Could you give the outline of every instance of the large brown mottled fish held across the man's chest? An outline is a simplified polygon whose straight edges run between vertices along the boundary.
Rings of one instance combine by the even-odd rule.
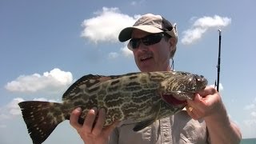
[[[185,71],[134,72],[120,75],[87,74],[62,95],[62,102],[24,101],[18,106],[34,144],[41,144],[59,123],[69,120],[81,107],[78,122],[83,124],[93,107],[106,110],[104,127],[131,120],[134,131],[182,110],[187,99],[203,90],[207,80]]]

